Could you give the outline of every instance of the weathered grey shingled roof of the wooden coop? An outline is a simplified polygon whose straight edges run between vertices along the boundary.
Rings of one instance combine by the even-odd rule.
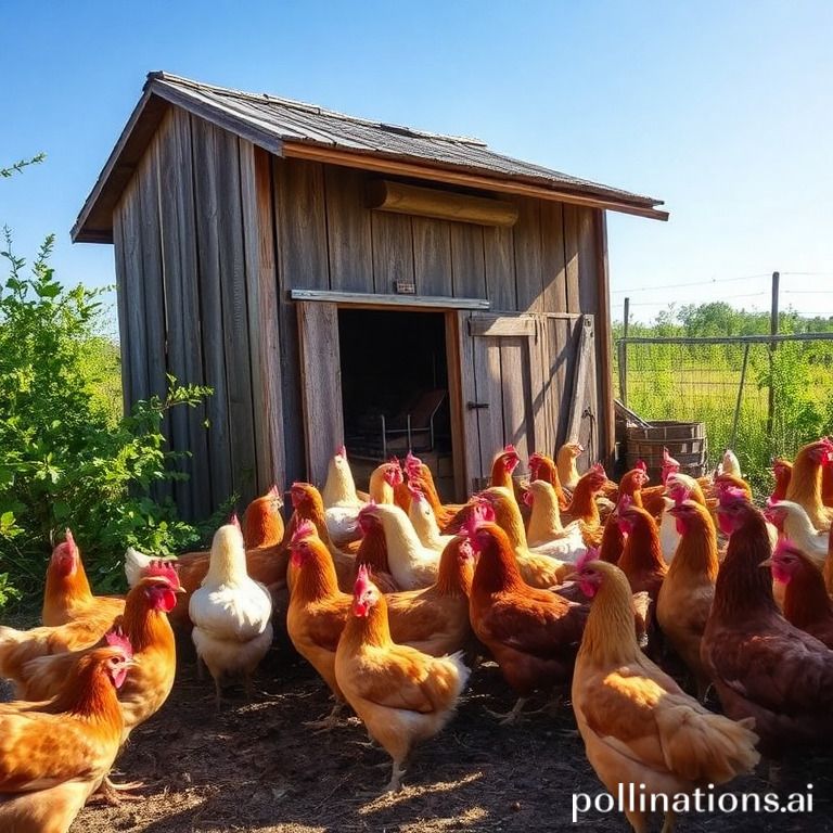
[[[266,93],[242,92],[150,73],[143,95],[78,216],[75,241],[111,242],[112,214],[165,110],[176,105],[278,156],[542,197],[667,219],[661,200],[572,177],[490,150],[478,139],[443,136],[347,116]],[[384,168],[382,163],[385,163]],[[456,175],[456,178],[451,178]]]

